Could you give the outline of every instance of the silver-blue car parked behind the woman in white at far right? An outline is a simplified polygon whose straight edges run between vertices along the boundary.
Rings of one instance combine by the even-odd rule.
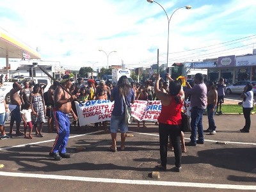
[[[244,86],[246,86],[246,84],[251,83],[253,84],[253,93],[256,93],[256,81],[238,81],[237,83],[231,84],[229,86],[226,87],[226,92],[227,94],[231,94],[231,93],[243,93],[244,91]]]

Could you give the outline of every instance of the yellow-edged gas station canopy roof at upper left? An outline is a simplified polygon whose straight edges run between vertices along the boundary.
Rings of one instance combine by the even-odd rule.
[[[0,28],[0,58],[41,59],[40,54]]]

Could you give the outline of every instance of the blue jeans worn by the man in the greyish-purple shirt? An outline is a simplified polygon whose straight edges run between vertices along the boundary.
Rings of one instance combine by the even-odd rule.
[[[191,109],[191,143],[196,144],[196,132],[198,132],[198,141],[204,142],[204,129],[203,129],[203,114],[205,109],[192,108]]]

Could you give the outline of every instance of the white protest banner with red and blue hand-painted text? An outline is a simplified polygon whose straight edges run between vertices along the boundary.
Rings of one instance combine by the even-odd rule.
[[[114,102],[110,100],[88,100],[82,106],[76,102],[77,117],[79,125],[84,126],[97,122],[109,121],[111,112],[114,108]],[[131,104],[132,116],[139,121],[157,122],[157,118],[161,113],[160,100],[135,100]],[[186,101],[184,112],[190,116],[190,102]]]

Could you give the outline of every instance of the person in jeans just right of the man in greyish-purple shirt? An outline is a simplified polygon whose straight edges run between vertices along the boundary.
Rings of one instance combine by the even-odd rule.
[[[209,128],[205,132],[216,134],[216,125],[213,117],[217,105],[218,93],[215,90],[215,86],[212,81],[207,82],[207,91],[207,115]]]

